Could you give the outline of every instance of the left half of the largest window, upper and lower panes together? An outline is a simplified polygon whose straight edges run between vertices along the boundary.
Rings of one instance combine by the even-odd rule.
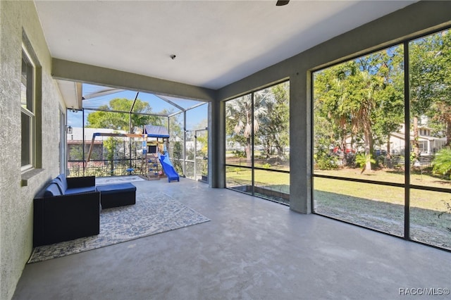
[[[404,54],[314,73],[314,174],[404,184]],[[404,189],[314,177],[317,213],[404,235]]]

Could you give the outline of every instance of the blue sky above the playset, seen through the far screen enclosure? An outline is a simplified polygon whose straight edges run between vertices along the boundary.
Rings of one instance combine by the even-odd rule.
[[[99,87],[95,85],[87,85],[83,84],[83,96],[85,96],[85,100],[83,100],[83,108],[98,108],[102,105],[108,105],[109,101],[115,98],[126,98],[130,100],[134,100],[137,96],[137,92],[134,91],[122,91],[122,92],[115,92],[113,94],[105,94],[103,96],[97,96],[95,98],[89,99],[90,94],[94,94],[96,92],[99,92],[101,90],[107,89],[106,87]],[[165,99],[169,101],[173,101],[175,104],[182,108],[190,108],[194,105],[202,103],[201,101],[192,101],[187,99],[180,99],[175,98],[171,96],[164,96]],[[173,111],[173,113],[178,113],[181,110],[179,108],[176,108],[175,106],[172,106],[171,104],[168,104],[166,101],[163,101],[162,99],[159,99],[158,96],[154,94],[139,92],[137,99],[140,99],[141,101],[146,101],[149,103],[149,106],[152,107],[152,112],[159,113],[166,109],[166,111]],[[85,110],[85,123],[87,120],[87,115],[89,112]],[[72,111],[68,110],[68,125],[72,127],[82,127],[82,111],[76,111],[73,113]],[[199,124],[206,123],[206,120],[208,118],[208,105],[204,104],[202,106],[199,106],[197,108],[192,108],[189,111],[187,111],[187,130],[196,130],[200,129]]]

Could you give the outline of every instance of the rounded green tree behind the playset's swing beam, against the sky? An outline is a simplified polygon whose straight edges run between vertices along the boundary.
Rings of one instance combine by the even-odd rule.
[[[107,111],[94,111],[87,115],[86,127],[130,131],[130,117],[132,120],[132,127],[143,127],[147,124],[162,125],[161,119],[158,116],[143,114],[152,113],[152,108],[147,102],[137,99],[135,106],[133,106],[133,113],[130,115],[128,112],[130,111],[130,108],[132,108],[132,104],[133,100],[130,99],[112,99],[109,102],[109,105],[99,107],[99,109]],[[123,111],[124,113],[112,111]]]

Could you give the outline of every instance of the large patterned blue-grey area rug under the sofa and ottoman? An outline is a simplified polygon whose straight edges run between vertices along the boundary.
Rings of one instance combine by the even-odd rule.
[[[135,205],[101,211],[99,235],[37,246],[28,263],[77,254],[208,221],[209,218],[162,192],[137,194]]]

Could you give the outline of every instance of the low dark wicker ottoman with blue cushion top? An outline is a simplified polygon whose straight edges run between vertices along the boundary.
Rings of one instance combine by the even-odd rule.
[[[131,205],[136,203],[136,187],[131,183],[98,185],[101,208]]]

